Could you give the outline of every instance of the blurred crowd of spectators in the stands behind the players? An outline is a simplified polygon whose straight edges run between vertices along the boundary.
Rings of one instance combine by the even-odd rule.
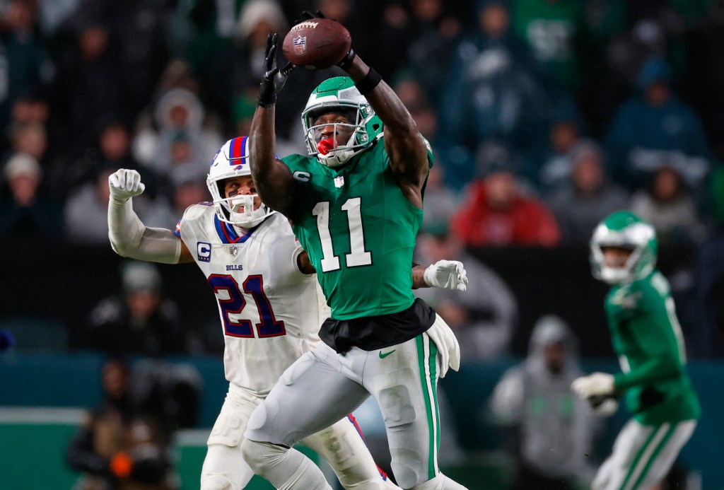
[[[146,182],[134,200],[141,219],[173,228],[187,206],[209,200],[206,173],[222,143],[248,133],[267,33],[284,35],[303,9],[350,30],[432,143],[417,261],[463,261],[470,284],[466,295],[418,294],[455,329],[463,358],[509,353],[525,300],[472,249],[585,246],[623,208],[654,225],[662,248],[693,250],[686,277],[672,281],[688,300],[682,320],[698,326],[695,356],[724,354],[719,0],[0,0],[0,243],[109,248],[107,179],[119,168]],[[280,153],[306,151],[300,111],[331,74],[292,73],[278,103]],[[124,263],[120,276],[122,292],[88,312],[68,347],[159,358],[220,344],[183,328],[155,266]],[[529,361],[577,373],[543,354],[549,337],[571,345],[559,319],[544,324]],[[127,367],[115,368],[125,379]],[[506,396],[506,384],[536,381],[526,370],[504,379],[493,411],[520,415],[521,468],[555,473],[526,439],[534,421],[515,408],[521,400]],[[559,384],[568,397],[568,378]],[[119,390],[94,418],[113,408],[130,420]],[[573,418],[569,408],[561,416]],[[188,417],[177,426],[193,426]],[[91,426],[69,453],[86,471]],[[560,436],[592,438],[589,428]],[[103,449],[99,474],[130,471],[109,466],[126,450]]]

